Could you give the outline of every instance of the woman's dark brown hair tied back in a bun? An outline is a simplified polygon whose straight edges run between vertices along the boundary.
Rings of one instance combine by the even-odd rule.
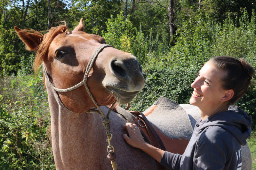
[[[225,90],[234,90],[234,96],[228,100],[228,105],[236,103],[251,85],[252,76],[255,74],[252,65],[244,59],[238,60],[230,56],[213,57],[209,61],[218,69],[226,71],[222,76],[222,87]]]

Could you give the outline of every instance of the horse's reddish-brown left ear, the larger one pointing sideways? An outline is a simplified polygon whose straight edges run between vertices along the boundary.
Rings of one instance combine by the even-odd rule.
[[[24,31],[17,26],[14,26],[15,31],[17,32],[20,39],[24,42],[24,44],[27,46],[27,50],[33,50],[36,51],[38,45],[42,42],[44,36],[40,33],[29,33],[27,31]]]

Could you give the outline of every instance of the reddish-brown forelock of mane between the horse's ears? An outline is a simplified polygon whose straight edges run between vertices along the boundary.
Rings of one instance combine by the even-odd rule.
[[[43,61],[46,59],[47,54],[48,54],[48,48],[52,42],[52,40],[54,39],[54,37],[56,35],[58,35],[59,33],[66,33],[67,30],[67,26],[65,25],[60,25],[57,27],[52,27],[48,33],[44,34],[44,36],[42,36],[43,40],[37,49],[36,49],[36,57],[35,57],[35,62],[33,64],[33,68],[35,70],[35,73],[37,73],[39,67],[42,65]],[[34,32],[37,34],[41,34],[39,32]],[[41,34],[42,35],[42,34]]]

